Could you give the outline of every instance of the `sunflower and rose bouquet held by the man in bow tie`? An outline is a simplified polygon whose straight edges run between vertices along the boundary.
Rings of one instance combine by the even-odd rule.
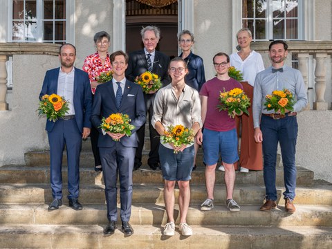
[[[285,115],[286,109],[293,111],[294,98],[291,91],[284,89],[282,91],[275,90],[272,94],[265,96],[265,106],[268,111],[274,110],[275,112],[280,111],[282,115]]]

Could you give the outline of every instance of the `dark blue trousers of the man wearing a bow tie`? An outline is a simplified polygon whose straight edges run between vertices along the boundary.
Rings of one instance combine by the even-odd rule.
[[[275,187],[278,142],[282,149],[284,165],[284,198],[293,200],[296,187],[295,146],[297,140],[297,118],[286,116],[279,120],[262,115],[261,132],[263,134],[264,183],[266,199],[277,200]]]

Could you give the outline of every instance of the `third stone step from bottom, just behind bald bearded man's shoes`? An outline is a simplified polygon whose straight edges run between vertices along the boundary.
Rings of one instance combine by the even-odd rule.
[[[118,190],[119,191],[119,190]],[[282,199],[284,187],[277,187],[279,205],[284,205]],[[64,185],[64,200],[67,196],[67,186]],[[175,190],[176,203],[178,189]],[[264,200],[265,187],[259,185],[236,185],[233,198],[239,205],[259,205]],[[119,196],[119,194],[118,194]],[[191,185],[191,204],[200,205],[206,198],[203,185]],[[225,202],[225,185],[216,185],[214,190],[214,203]],[[50,203],[52,201],[50,185],[44,184],[3,184],[0,185],[0,203]],[[80,202],[82,204],[105,203],[104,185],[80,185]],[[118,202],[120,202],[118,200]],[[134,184],[133,203],[161,204],[163,200],[163,184]],[[299,186],[296,189],[295,204],[332,205],[332,185],[322,185],[320,181],[311,187]]]

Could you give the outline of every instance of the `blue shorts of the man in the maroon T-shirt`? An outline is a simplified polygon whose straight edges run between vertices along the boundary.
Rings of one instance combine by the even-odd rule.
[[[219,154],[223,163],[232,164],[237,162],[239,160],[239,155],[237,154],[237,130],[212,131],[205,128],[203,131],[203,151],[206,165],[218,163]]]

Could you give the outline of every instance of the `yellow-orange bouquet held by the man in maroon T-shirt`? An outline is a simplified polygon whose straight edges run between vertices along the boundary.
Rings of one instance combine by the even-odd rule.
[[[250,99],[243,93],[242,89],[234,88],[230,91],[220,92],[219,94],[220,104],[216,107],[219,111],[228,111],[228,116],[234,118],[236,114],[248,113],[248,107],[250,107]]]

